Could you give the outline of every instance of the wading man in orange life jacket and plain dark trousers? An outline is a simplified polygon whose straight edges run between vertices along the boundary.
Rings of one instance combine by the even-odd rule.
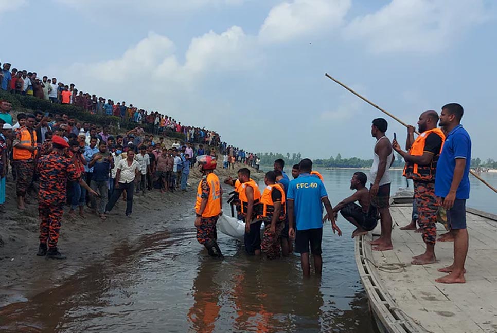
[[[240,187],[238,190],[240,198],[240,215],[245,222],[245,251],[250,254],[260,254],[260,227],[262,221],[258,220],[259,203],[261,194],[257,183],[250,178],[250,170],[242,168],[238,170]]]

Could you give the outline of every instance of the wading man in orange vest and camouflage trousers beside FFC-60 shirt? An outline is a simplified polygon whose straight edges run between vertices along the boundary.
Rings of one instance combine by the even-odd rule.
[[[276,183],[274,171],[265,174],[264,183],[266,188],[260,199],[260,217],[264,221],[261,250],[268,259],[274,259],[279,256],[281,232],[285,227],[285,190],[281,184]]]

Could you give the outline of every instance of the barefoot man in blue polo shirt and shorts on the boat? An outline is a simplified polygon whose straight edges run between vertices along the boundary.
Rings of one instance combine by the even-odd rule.
[[[438,269],[449,275],[436,279],[440,283],[465,283],[464,263],[468,253],[466,230],[466,199],[469,198],[469,168],[471,161],[471,138],[460,124],[463,107],[457,103],[442,106],[440,126],[447,137],[438,159],[435,178],[435,195],[438,203],[447,210],[447,221],[454,237],[454,262]]]

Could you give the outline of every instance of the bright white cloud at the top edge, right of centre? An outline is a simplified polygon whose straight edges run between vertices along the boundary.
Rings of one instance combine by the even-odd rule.
[[[294,0],[271,9],[259,36],[266,42],[285,42],[342,24],[351,0]]]

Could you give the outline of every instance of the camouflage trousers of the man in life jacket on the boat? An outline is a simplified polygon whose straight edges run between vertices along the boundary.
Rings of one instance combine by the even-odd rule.
[[[414,181],[414,198],[418,211],[418,224],[423,229],[423,241],[426,244],[435,244],[437,238],[437,210],[435,196],[435,182]]]

